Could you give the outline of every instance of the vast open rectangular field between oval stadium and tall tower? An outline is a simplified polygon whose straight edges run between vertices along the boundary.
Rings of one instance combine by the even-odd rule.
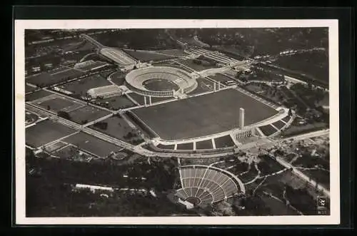
[[[138,108],[133,112],[161,138],[177,140],[220,133],[237,127],[239,108],[245,109],[246,125],[278,113],[235,89]]]

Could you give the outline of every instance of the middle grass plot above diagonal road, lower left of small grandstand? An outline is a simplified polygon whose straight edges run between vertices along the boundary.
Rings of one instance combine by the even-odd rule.
[[[69,116],[71,117],[71,120],[73,120],[76,123],[81,124],[82,121],[86,120],[87,122],[90,122],[92,120],[96,120],[98,118],[101,118],[103,116],[108,115],[109,112],[100,110],[98,108],[94,108],[91,106],[84,106],[83,108],[79,108],[76,111],[72,111],[69,113]]]

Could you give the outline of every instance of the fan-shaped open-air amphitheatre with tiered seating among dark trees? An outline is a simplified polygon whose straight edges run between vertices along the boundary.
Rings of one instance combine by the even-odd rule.
[[[186,165],[179,169],[181,188],[176,196],[183,202],[205,206],[245,193],[241,180],[226,170],[206,165]]]

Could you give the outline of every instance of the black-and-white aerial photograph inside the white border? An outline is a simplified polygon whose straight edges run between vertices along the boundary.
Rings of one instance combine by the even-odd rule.
[[[328,27],[24,41],[26,217],[331,215]]]

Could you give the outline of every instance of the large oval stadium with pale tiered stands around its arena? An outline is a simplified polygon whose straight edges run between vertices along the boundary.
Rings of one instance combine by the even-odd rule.
[[[190,93],[198,85],[186,71],[167,66],[139,68],[129,72],[125,80],[131,91],[154,97]]]

